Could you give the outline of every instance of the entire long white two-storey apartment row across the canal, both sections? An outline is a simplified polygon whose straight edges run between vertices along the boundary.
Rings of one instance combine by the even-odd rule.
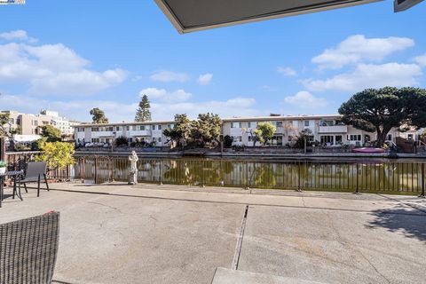
[[[363,145],[376,139],[375,133],[357,130],[340,121],[340,115],[303,115],[303,116],[265,116],[265,117],[236,117],[223,119],[222,134],[233,138],[233,145],[254,146],[253,130],[259,122],[272,122],[276,127],[273,146],[286,146],[294,143],[296,136],[305,129],[312,132],[312,141],[319,141],[324,146],[339,144]],[[120,136],[128,138],[129,142],[155,142],[156,146],[167,146],[168,138],[162,135],[162,130],[173,128],[173,121],[165,122],[122,122],[110,124],[82,124],[75,126],[76,143],[112,143]],[[391,130],[388,140],[395,142],[397,137],[416,139],[415,130],[399,132]],[[258,146],[258,144],[256,145]]]

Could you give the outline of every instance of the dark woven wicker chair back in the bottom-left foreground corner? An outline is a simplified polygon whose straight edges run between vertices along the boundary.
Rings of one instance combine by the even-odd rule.
[[[59,246],[59,212],[0,225],[0,284],[51,283]]]

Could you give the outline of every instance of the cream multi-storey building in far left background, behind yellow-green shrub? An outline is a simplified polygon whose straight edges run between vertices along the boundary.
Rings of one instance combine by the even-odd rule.
[[[42,110],[40,114],[22,114],[13,110],[1,111],[3,114],[10,114],[10,122],[6,128],[20,128],[22,135],[38,135],[40,127],[52,125],[58,128],[62,135],[73,135],[74,126],[81,122],[73,122],[65,117],[59,116],[58,112]]]

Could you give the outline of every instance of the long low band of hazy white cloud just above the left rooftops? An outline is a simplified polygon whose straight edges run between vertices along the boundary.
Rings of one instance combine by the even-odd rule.
[[[58,110],[59,114],[69,119],[82,122],[91,122],[89,114],[91,108],[99,107],[105,111],[110,122],[132,122],[138,108],[138,102],[120,103],[111,100],[83,100],[71,101],[47,100],[30,96],[0,95],[0,105],[3,109],[14,109],[24,113],[37,113],[40,109],[49,106]],[[173,120],[175,114],[188,114],[196,118],[198,114],[214,113],[221,117],[254,116],[260,115],[254,108],[256,99],[233,98],[225,101],[210,100],[204,102],[152,102],[151,113],[154,120]]]

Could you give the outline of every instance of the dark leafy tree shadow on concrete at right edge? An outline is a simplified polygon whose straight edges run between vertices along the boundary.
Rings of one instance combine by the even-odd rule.
[[[407,238],[426,242],[426,214],[413,209],[398,207],[380,209],[370,213],[375,217],[368,228],[383,227],[392,233],[403,233]]]

